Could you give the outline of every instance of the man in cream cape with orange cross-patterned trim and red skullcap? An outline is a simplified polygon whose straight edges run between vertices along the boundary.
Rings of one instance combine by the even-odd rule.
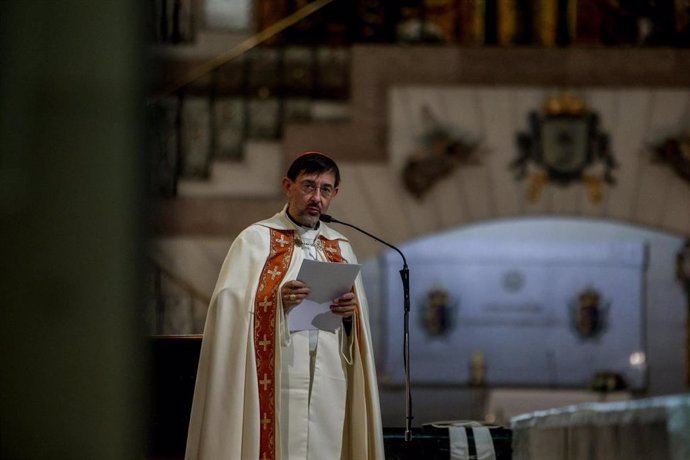
[[[287,205],[230,247],[208,310],[187,460],[383,459],[378,389],[361,278],[333,299],[335,332],[290,331],[309,294],[302,261],[356,263],[343,235],[319,221],[340,173],[316,152],[283,178]]]

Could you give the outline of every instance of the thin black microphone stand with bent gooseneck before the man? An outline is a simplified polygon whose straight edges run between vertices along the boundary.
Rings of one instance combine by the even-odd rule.
[[[348,224],[347,222],[340,221],[328,214],[321,214],[320,220],[324,222],[333,222],[335,224],[345,225],[347,227],[354,228],[358,232],[364,233],[370,238],[375,239],[379,243],[385,244],[391,249],[400,254],[403,259],[403,268],[400,270],[400,277],[403,283],[403,364],[405,366],[405,442],[409,442],[412,439],[412,393],[410,391],[410,270],[407,268],[407,259],[405,255],[390,243],[383,241],[371,233],[362,230],[361,228]]]

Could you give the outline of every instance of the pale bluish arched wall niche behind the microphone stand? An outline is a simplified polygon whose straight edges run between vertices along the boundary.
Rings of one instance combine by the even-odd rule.
[[[529,217],[461,226],[401,244],[411,278],[413,381],[422,386],[469,384],[472,353],[481,351],[488,385],[587,386],[588,375],[564,377],[569,374],[567,360],[572,367],[582,367],[590,359],[592,373],[623,374],[637,391],[683,391],[687,301],[675,274],[683,243],[682,236],[625,223]],[[434,264],[435,260],[442,262]],[[400,383],[402,372],[401,266],[393,251],[363,264],[384,384]],[[432,272],[439,268],[445,273],[437,277],[438,287],[446,291],[454,311],[451,330],[434,337],[424,329],[422,310],[430,302]],[[472,272],[479,278],[472,278]],[[467,294],[477,291],[476,285],[468,285],[473,279],[484,285],[484,292]],[[530,283],[538,286],[520,286]],[[574,324],[577,297],[587,287],[600,295],[601,310],[607,309],[606,327],[590,338],[582,337]],[[521,289],[526,297],[520,297]],[[484,309],[491,308],[494,299],[494,311],[482,316],[482,308],[471,305],[472,299],[483,302]],[[520,308],[530,302],[533,311],[521,315]],[[529,321],[541,325],[525,330],[523,323]],[[462,340],[480,337],[477,329],[489,337],[475,343]],[[525,345],[526,340],[531,342]],[[491,344],[490,349],[482,350],[477,342],[483,347]],[[621,344],[623,348],[616,350]],[[425,347],[428,350],[420,351]],[[451,363],[455,375],[448,370]],[[501,373],[508,363],[518,363],[513,377],[520,371],[525,375],[512,378]]]

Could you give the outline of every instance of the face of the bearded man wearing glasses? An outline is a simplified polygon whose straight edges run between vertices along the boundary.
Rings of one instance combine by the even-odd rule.
[[[288,198],[288,213],[306,227],[316,226],[338,193],[332,172],[300,173],[294,181],[284,177],[283,191]]]

